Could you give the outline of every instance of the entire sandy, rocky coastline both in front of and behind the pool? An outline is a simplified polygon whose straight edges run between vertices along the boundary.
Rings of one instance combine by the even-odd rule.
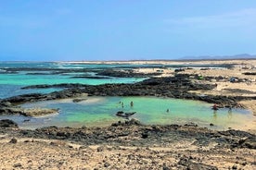
[[[136,64],[152,62],[155,61],[134,61]],[[189,64],[190,61],[186,63]],[[166,67],[133,68],[134,72],[146,75],[157,70],[162,70],[162,74],[135,85],[72,87],[67,84],[70,89],[64,91],[20,95],[6,99],[1,101],[1,108],[5,106],[9,109],[9,104],[16,106],[20,101],[30,103],[54,99],[63,100],[65,103],[70,102],[72,97],[83,98],[86,93],[89,96],[157,95],[190,98],[209,103],[219,102],[218,104],[223,107],[231,105],[249,108],[255,115],[255,75],[244,73],[256,72],[253,68],[256,66],[256,60],[197,61],[193,64],[234,64],[235,67],[186,68],[179,72]],[[204,79],[198,79],[195,75]],[[172,79],[169,79],[170,76]],[[236,77],[237,82],[230,82],[229,79],[232,77]],[[177,79],[179,81],[169,83],[170,80]],[[246,79],[251,81],[250,84]],[[186,85],[183,85],[184,83]],[[193,88],[187,89],[187,86]],[[62,87],[66,85],[62,84]],[[7,109],[5,111],[8,111]],[[254,169],[256,166],[255,129],[247,132],[241,129],[220,131],[198,128],[194,123],[143,125],[134,119],[113,123],[107,127],[48,127],[29,130],[12,126],[14,125],[0,128],[0,164],[6,169]],[[248,126],[250,128],[250,125]]]

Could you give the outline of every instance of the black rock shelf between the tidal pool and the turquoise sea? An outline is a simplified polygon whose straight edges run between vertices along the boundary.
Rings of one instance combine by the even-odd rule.
[[[0,101],[0,114],[21,114],[20,103],[57,100],[80,97],[85,93],[89,96],[158,96],[177,99],[190,99],[217,103],[219,107],[242,107],[239,101],[255,100],[256,96],[200,95],[191,91],[211,91],[216,84],[197,81],[197,75],[175,74],[173,77],[150,78],[134,84],[55,84],[34,85],[23,89],[65,88],[48,94],[32,93],[6,98]],[[216,79],[216,78],[207,78]]]

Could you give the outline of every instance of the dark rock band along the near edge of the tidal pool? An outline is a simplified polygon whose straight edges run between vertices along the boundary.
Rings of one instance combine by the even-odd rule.
[[[4,122],[6,123],[6,120]],[[5,125],[16,127],[12,122]],[[166,146],[167,143],[172,145],[177,141],[186,141],[198,147],[208,146],[210,143],[215,143],[217,148],[226,149],[255,149],[256,146],[256,136],[240,130],[212,131],[207,128],[198,128],[196,125],[143,125],[135,119],[119,121],[103,128],[48,127],[35,130],[9,130],[0,128],[0,132],[10,133],[12,137],[69,140],[85,145],[117,144],[150,147],[155,144]]]

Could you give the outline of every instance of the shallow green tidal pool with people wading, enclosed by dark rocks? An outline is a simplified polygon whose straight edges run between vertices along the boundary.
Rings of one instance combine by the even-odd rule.
[[[131,106],[131,102],[134,103]],[[123,106],[122,106],[123,103]],[[250,111],[244,109],[211,110],[211,103],[191,100],[156,98],[156,97],[87,97],[80,103],[71,99],[26,103],[22,107],[59,108],[57,115],[43,117],[24,117],[20,115],[5,115],[19,123],[20,128],[41,128],[47,126],[82,127],[108,126],[113,122],[123,120],[116,115],[118,111],[136,112],[131,118],[136,118],[144,124],[166,125],[196,123],[200,127],[214,129],[244,129],[255,125],[256,118]],[[169,111],[168,111],[169,110]],[[0,116],[3,118],[3,115]],[[25,121],[30,119],[30,121]],[[213,127],[210,127],[213,124]],[[255,128],[250,126],[250,128]]]

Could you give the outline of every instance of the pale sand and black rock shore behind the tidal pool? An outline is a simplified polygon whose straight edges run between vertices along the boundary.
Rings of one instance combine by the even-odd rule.
[[[135,61],[142,62],[146,64],[147,61]],[[160,62],[160,61],[152,61]],[[173,61],[161,61],[173,62]],[[176,62],[176,61],[175,61]],[[180,62],[180,61],[179,61]],[[224,65],[226,62],[232,63],[233,67],[222,68],[222,67],[212,67],[212,68],[201,68],[201,67],[184,67],[170,69],[169,67],[131,67],[131,71],[122,70],[112,70],[109,72],[109,68],[106,68],[106,72],[101,71],[100,74],[109,76],[122,75],[123,77],[133,77],[133,76],[150,76],[150,79],[146,79],[141,83],[134,83],[134,85],[98,85],[98,86],[87,86],[83,84],[58,84],[55,85],[35,85],[29,87],[23,87],[23,89],[30,88],[69,88],[64,91],[52,92],[48,95],[35,95],[35,96],[17,96],[14,98],[7,99],[6,102],[17,103],[16,101],[23,101],[25,103],[36,102],[36,101],[48,101],[48,100],[61,100],[59,102],[70,102],[69,98],[77,98],[75,100],[80,101],[84,96],[160,96],[168,98],[177,99],[189,99],[204,101],[207,103],[217,103],[221,107],[242,107],[247,108],[252,111],[255,115],[255,107],[253,107],[253,98],[256,95],[256,85],[254,75],[244,75],[245,72],[255,71],[254,66],[256,66],[256,60],[210,60],[210,61],[193,61],[195,63],[200,62],[200,66],[211,64]],[[236,63],[236,64],[235,64]],[[186,62],[182,62],[186,64]],[[255,65],[254,65],[255,64]],[[68,70],[69,71],[69,70]],[[70,70],[73,72],[73,70]],[[178,71],[178,72],[177,72]],[[157,74],[158,73],[158,74]],[[229,79],[236,77],[239,82],[230,82]],[[155,79],[154,79],[155,78]],[[172,79],[170,79],[172,78]],[[202,78],[202,79],[201,79]],[[190,82],[188,82],[188,79]],[[251,80],[250,84],[245,79]],[[168,81],[174,81],[170,85]],[[175,82],[177,81],[177,82]],[[179,82],[181,81],[181,82]],[[150,84],[160,84],[155,87]],[[183,84],[186,84],[184,86]],[[139,85],[139,86],[138,86]],[[184,87],[182,87],[184,86]],[[194,88],[188,88],[187,86],[192,86]],[[73,91],[72,88],[76,90]],[[81,88],[84,88],[82,90]],[[152,89],[153,88],[153,89]],[[87,89],[87,90],[86,90]],[[145,91],[147,89],[147,91]],[[151,89],[151,90],[150,90]],[[170,91],[165,91],[165,89],[170,89]],[[105,91],[105,92],[104,92]],[[177,92],[179,91],[179,92]],[[220,101],[221,100],[221,101]],[[5,100],[4,100],[5,101]],[[16,109],[17,110],[17,109]],[[19,110],[18,110],[19,112]],[[17,111],[16,111],[17,113]],[[250,126],[251,127],[251,126]],[[252,129],[253,130],[253,129]]]

